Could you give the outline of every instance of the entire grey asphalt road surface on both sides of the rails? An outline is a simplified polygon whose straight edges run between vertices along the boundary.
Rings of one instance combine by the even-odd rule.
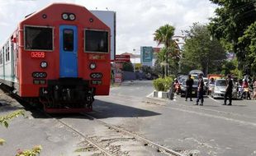
[[[111,88],[109,96],[96,97],[94,112],[89,115],[183,155],[256,155],[255,100],[235,100],[233,106],[222,106],[223,99],[205,97],[204,106],[194,106],[196,99],[155,99],[150,96],[152,92],[152,81],[127,81]],[[0,116],[22,108],[15,100],[0,95]],[[13,119],[8,129],[0,127],[0,138],[7,140],[0,146],[1,154],[15,155],[16,149],[42,145],[42,156],[102,155],[99,150],[86,150],[88,143],[83,136],[61,122],[91,140],[111,140],[109,147],[103,147],[118,147],[113,149],[117,151],[114,155],[168,155],[145,147],[133,137],[116,136],[106,126],[81,114],[45,117],[31,109],[25,118]],[[81,148],[82,152],[74,152]]]

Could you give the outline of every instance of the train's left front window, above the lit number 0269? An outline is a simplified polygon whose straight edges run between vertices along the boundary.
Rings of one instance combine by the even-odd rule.
[[[48,27],[25,27],[25,49],[53,50],[53,29]]]

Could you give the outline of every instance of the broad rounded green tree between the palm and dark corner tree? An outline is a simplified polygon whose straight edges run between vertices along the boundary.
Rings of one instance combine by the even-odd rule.
[[[225,51],[220,42],[211,37],[207,25],[194,23],[191,30],[185,31],[185,44],[181,58],[182,72],[197,69],[208,73],[220,73]]]

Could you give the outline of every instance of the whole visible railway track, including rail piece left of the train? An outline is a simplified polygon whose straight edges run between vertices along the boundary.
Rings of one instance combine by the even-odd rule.
[[[27,105],[26,101],[20,99],[17,96],[13,96],[13,94],[9,94],[12,96],[12,98],[15,98],[19,101],[19,103],[23,103]],[[69,124],[68,122],[65,122],[64,119],[59,119],[57,117],[54,117],[50,114],[47,114],[42,111],[40,108],[36,108],[36,111],[40,112],[42,115],[46,117],[50,117],[54,119],[56,122],[59,122],[59,124],[63,125],[68,129],[69,131],[72,131],[73,133],[77,134],[80,136],[80,138],[83,139],[83,145],[81,147],[81,150],[83,152],[83,149],[89,148],[92,152],[94,152],[93,155],[106,155],[106,156],[116,156],[116,155],[135,155],[135,154],[130,154],[129,150],[121,150],[120,145],[113,146],[111,145],[113,142],[132,142],[132,144],[142,146],[141,149],[142,151],[145,150],[151,150],[154,151],[153,155],[169,155],[169,156],[183,156],[183,154],[179,154],[178,152],[174,151],[173,149],[168,149],[164,147],[163,145],[159,145],[155,143],[154,141],[148,140],[140,135],[137,135],[131,131],[126,131],[125,129],[114,126],[111,124],[108,124],[107,122],[103,122],[100,119],[97,119],[96,117],[92,117],[92,115],[89,115],[88,113],[82,113],[81,115],[83,117],[88,117],[92,119],[93,121],[96,121],[97,123],[106,126],[109,131],[112,131],[114,133],[115,138],[114,140],[106,140],[102,139],[100,136],[98,137],[90,137],[88,135],[83,134],[83,131],[78,130],[75,126],[72,124]],[[108,141],[108,143],[106,143]],[[84,144],[86,142],[86,144]],[[126,144],[126,143],[125,143]],[[88,146],[88,147],[85,147]],[[107,147],[110,146],[110,147]],[[147,154],[145,154],[147,155]]]

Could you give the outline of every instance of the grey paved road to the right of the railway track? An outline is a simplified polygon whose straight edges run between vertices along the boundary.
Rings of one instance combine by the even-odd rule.
[[[129,88],[132,86],[138,87],[129,85]],[[122,86],[121,90],[126,88]],[[100,99],[118,103],[121,108],[108,106],[104,113],[97,116],[116,117],[115,120],[105,120],[168,148],[185,151],[184,154],[256,155],[256,101],[235,100],[233,106],[222,106],[223,99],[205,97],[204,106],[200,107],[185,102],[179,96],[173,101],[138,96],[147,89],[137,89],[133,95],[127,96],[116,89],[118,94]],[[103,112],[101,107],[96,109]],[[144,111],[150,113],[145,115]]]

